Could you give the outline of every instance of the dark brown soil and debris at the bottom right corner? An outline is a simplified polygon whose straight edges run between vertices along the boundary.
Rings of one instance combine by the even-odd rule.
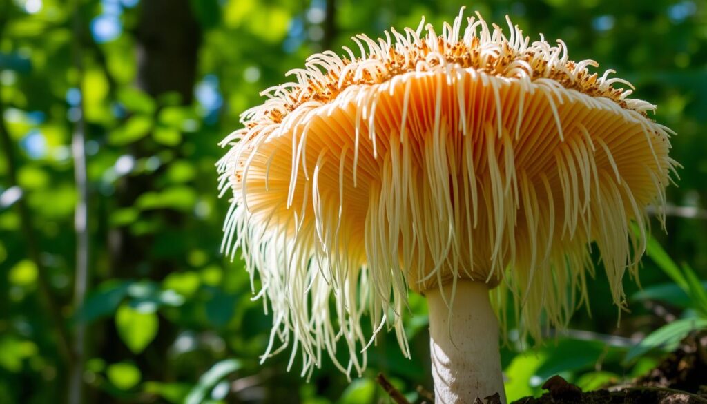
[[[544,383],[539,398],[511,404],[707,404],[707,333],[686,337],[653,370],[631,383],[583,392],[560,376]],[[495,404],[486,398],[485,404]],[[484,404],[477,399],[475,404]]]

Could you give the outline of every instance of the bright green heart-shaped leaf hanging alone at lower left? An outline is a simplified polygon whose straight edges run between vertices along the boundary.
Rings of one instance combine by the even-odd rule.
[[[122,304],[115,314],[115,326],[125,345],[139,354],[155,339],[159,321],[154,311],[141,311]]]

